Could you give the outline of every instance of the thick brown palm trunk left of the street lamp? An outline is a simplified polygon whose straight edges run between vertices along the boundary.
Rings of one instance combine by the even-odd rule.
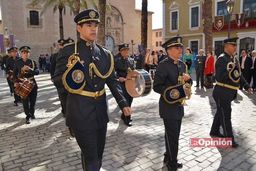
[[[213,50],[212,38],[212,0],[204,0],[205,50]]]

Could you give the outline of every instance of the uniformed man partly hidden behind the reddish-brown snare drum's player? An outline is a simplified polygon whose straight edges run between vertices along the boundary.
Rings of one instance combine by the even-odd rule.
[[[18,48],[12,47],[12,48],[10,48],[10,52],[11,52],[11,57],[6,59],[6,66],[5,66],[5,73],[6,73],[7,78],[10,78],[10,76],[14,72],[15,60],[20,59],[17,57]],[[16,75],[16,77],[17,77],[17,75]],[[15,89],[14,82],[11,81],[11,85],[12,85],[12,91],[14,92],[14,89]],[[19,101],[20,101],[20,97],[14,93],[14,106],[18,106]]]

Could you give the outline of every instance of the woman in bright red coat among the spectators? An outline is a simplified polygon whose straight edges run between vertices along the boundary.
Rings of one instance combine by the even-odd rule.
[[[208,76],[214,74],[214,57],[212,50],[207,51],[207,58],[204,61],[204,87],[206,89],[213,88],[213,83],[208,81]]]

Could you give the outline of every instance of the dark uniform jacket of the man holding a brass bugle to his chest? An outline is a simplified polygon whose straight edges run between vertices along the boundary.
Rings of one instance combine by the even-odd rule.
[[[161,95],[159,99],[160,117],[163,119],[180,120],[184,116],[183,106],[179,106],[180,102],[174,104],[166,103],[162,95],[168,87],[178,84],[178,76],[186,72],[186,66],[180,60],[175,64],[175,60],[171,59],[168,55],[166,57],[156,67],[153,90]],[[187,82],[192,85],[191,79]]]

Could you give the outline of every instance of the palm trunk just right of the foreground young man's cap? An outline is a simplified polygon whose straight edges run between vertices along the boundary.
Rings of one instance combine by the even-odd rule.
[[[100,44],[101,46],[106,46],[106,41],[105,41],[106,0],[98,1],[98,9],[99,9],[99,13],[100,13],[101,23],[98,25],[97,43]]]

